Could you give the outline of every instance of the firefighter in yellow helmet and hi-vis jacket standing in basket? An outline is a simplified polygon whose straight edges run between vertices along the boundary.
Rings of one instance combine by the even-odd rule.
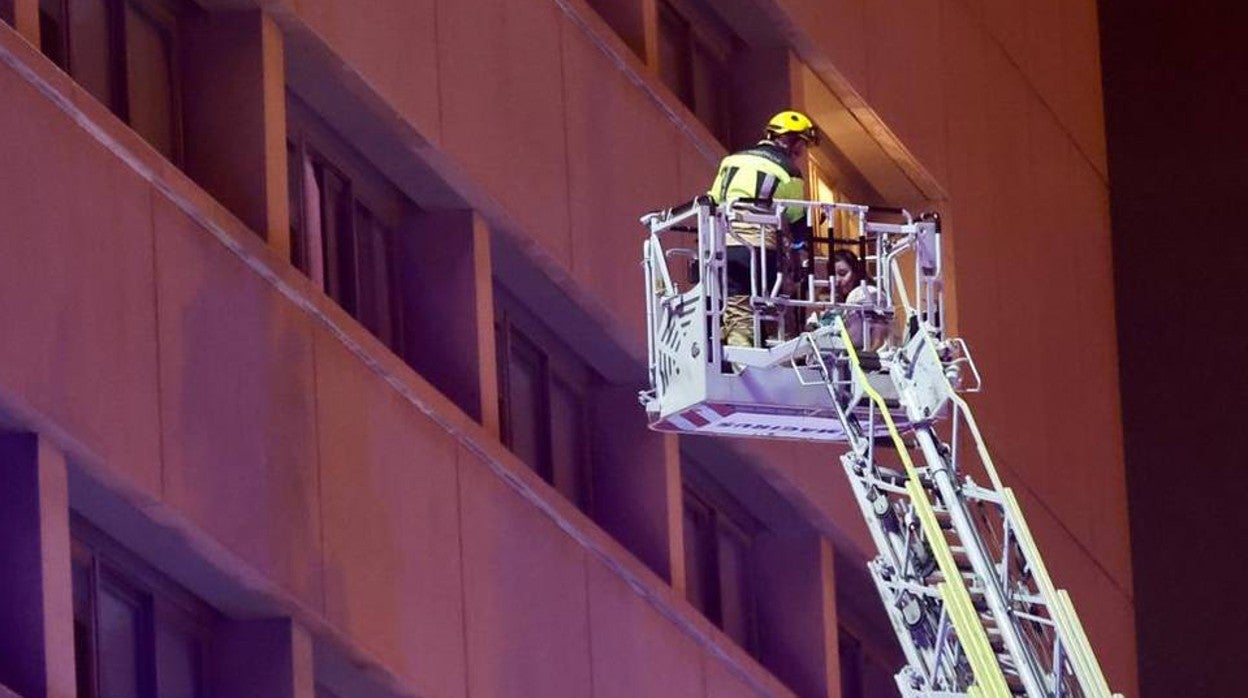
[[[800,111],[781,111],[768,121],[763,140],[754,147],[724,159],[708,192],[716,204],[734,199],[805,199],[806,186],[797,164],[806,157],[806,149],[819,140],[809,116]],[[794,247],[805,245],[810,236],[805,210],[785,211]],[[750,257],[755,263],[766,260],[769,276],[778,270],[778,233],[759,226],[738,226],[726,236],[728,305],[724,308],[724,343],[754,346],[754,311],[750,307]],[[760,267],[761,268],[761,267]],[[770,286],[759,278],[760,290]]]

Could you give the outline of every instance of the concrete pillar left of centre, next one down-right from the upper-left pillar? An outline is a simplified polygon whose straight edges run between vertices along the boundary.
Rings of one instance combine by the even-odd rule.
[[[473,211],[422,211],[399,227],[403,356],[498,436],[489,227]]]

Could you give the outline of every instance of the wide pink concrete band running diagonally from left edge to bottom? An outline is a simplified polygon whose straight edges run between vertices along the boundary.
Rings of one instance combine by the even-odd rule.
[[[787,696],[102,106],[32,90],[77,96],[6,27],[0,56],[32,66],[0,66],[14,418],[407,693],[588,696],[590,634],[633,623],[698,694]]]

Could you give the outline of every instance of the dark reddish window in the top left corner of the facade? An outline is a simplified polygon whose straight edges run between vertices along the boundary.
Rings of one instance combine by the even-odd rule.
[[[39,0],[44,55],[180,162],[176,29],[173,6],[156,0]]]

